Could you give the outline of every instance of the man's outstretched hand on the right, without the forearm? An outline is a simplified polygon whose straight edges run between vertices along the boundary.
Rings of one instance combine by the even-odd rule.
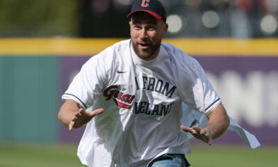
[[[209,132],[208,129],[202,128],[202,127],[185,127],[181,125],[180,127],[184,132],[190,132],[193,134],[195,138],[198,138],[201,141],[204,141],[204,143],[208,143],[208,145],[211,145],[213,141],[213,137],[211,135],[211,132]]]

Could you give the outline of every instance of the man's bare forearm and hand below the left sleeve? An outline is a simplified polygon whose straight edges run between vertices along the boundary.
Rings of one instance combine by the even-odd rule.
[[[72,131],[73,128],[81,127],[89,122],[94,116],[103,112],[104,109],[85,111],[75,100],[66,100],[60,108],[58,118],[60,122],[69,127],[69,130]]]

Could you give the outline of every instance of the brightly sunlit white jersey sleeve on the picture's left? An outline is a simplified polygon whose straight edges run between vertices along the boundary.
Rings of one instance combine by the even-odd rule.
[[[81,67],[80,72],[62,95],[62,100],[75,100],[84,109],[92,106],[106,84],[105,65],[99,56],[101,55],[93,56]]]

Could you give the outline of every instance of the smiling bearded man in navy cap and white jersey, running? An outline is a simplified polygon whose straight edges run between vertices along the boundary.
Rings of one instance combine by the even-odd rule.
[[[161,43],[168,25],[159,1],[136,0],[128,17],[131,40],[83,65],[58,118],[70,131],[88,123],[78,150],[85,165],[189,166],[184,132],[211,145],[229,126],[227,113],[199,63]],[[182,102],[208,116],[206,127],[181,125]]]

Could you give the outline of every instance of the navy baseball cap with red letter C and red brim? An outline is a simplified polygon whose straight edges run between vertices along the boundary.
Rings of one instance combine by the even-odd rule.
[[[154,18],[163,19],[166,22],[166,10],[158,0],[135,0],[131,7],[131,13],[127,17],[131,17],[133,13],[140,11],[149,13]]]

